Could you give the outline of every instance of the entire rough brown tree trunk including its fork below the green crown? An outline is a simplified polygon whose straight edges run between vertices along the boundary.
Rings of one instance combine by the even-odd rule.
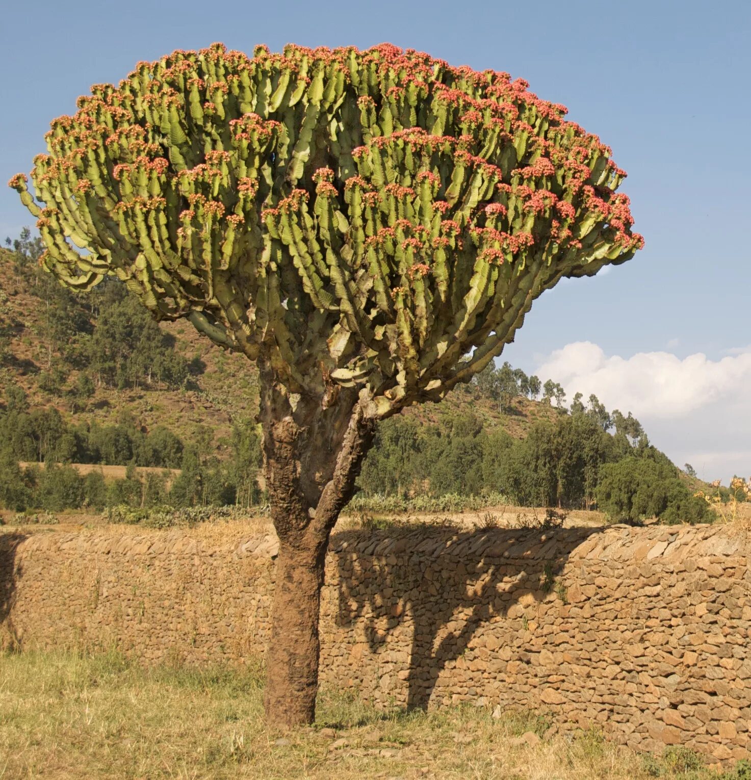
[[[261,372],[266,484],[279,537],[264,706],[276,726],[315,718],[328,538],[374,435],[362,400],[342,392],[293,401],[272,371]]]

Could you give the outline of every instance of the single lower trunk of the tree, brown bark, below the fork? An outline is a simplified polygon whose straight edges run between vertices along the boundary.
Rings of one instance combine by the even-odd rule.
[[[315,718],[326,536],[324,544],[280,544],[264,693],[272,725],[289,728]]]

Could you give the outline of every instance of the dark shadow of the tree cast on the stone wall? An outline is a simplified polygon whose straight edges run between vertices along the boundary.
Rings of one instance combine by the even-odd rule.
[[[331,540],[339,575],[338,625],[364,621],[374,653],[411,622],[406,700],[403,692],[396,700],[408,711],[426,709],[441,671],[493,618],[508,619],[508,629],[518,632],[511,660],[530,663],[523,643],[527,621],[540,601],[565,605],[565,583],[557,578],[572,551],[601,530],[423,527],[367,537],[344,531]],[[402,676],[404,671],[397,670]]]

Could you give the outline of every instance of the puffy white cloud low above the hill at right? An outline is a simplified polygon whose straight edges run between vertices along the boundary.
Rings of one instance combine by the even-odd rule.
[[[535,373],[563,385],[571,399],[594,393],[608,409],[632,412],[655,445],[700,476],[751,473],[751,347],[710,360],[670,352],[608,356],[575,342],[540,360]]]

